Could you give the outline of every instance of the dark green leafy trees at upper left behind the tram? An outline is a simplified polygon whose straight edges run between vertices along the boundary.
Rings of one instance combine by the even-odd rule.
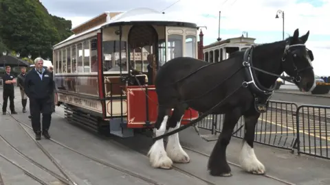
[[[72,35],[71,21],[52,16],[38,0],[0,0],[0,49],[52,58],[52,46]]]

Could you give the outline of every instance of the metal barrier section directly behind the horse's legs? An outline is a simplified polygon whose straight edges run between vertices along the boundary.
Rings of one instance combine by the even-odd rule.
[[[269,111],[261,114],[256,124],[254,141],[263,145],[292,150],[297,138],[296,130],[296,103],[270,101]],[[221,132],[224,115],[208,115],[206,119],[197,123],[199,128],[210,130],[212,134]],[[234,128],[233,136],[244,137],[243,117]],[[240,129],[241,128],[241,129]]]

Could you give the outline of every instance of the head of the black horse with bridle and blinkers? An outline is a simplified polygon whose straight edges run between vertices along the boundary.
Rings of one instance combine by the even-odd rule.
[[[283,70],[289,76],[294,77],[294,84],[303,91],[311,91],[315,88],[314,70],[311,62],[314,60],[313,52],[306,48],[305,42],[309,31],[299,37],[299,31],[294,31],[294,36],[287,38],[282,57]]]

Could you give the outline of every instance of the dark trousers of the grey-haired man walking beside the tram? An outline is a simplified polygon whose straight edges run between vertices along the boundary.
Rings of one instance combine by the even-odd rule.
[[[49,130],[50,121],[52,120],[52,100],[50,98],[30,98],[30,114],[32,116],[32,128],[35,133],[41,131],[40,114],[43,114],[43,130]]]

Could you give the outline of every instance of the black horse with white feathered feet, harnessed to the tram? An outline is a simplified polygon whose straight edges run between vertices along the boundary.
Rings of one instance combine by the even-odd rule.
[[[253,149],[255,125],[261,112],[267,110],[276,79],[285,71],[292,81],[306,92],[315,88],[311,61],[314,56],[305,47],[309,32],[283,41],[257,45],[238,51],[227,60],[210,64],[194,58],[175,58],[159,69],[155,88],[158,96],[158,116],[155,135],[180,127],[187,108],[208,114],[225,114],[222,132],[214,146],[208,169],[211,175],[231,176],[225,157],[234,127],[243,115],[245,136],[239,161],[250,173],[265,173],[264,165]],[[174,109],[170,116],[170,110]],[[173,162],[189,162],[179,143],[178,133],[168,136],[166,151],[163,139],[156,140],[148,156],[151,166],[170,169]]]

